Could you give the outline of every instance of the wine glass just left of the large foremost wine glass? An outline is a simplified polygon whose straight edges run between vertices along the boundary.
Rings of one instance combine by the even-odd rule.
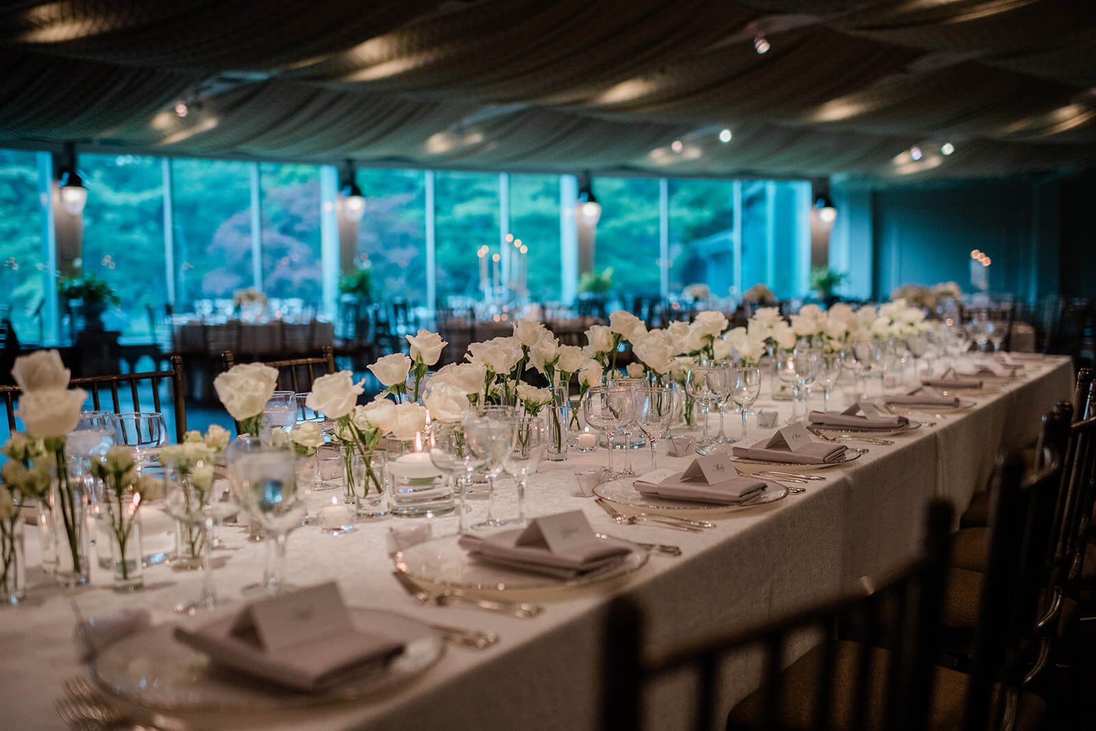
[[[202,464],[194,465],[201,469]],[[213,580],[213,542],[210,534],[218,522],[237,513],[240,509],[236,496],[230,489],[225,489],[224,483],[218,485],[212,477],[208,484],[196,476],[192,468],[189,474],[180,474],[169,468],[164,474],[167,489],[163,499],[163,510],[180,523],[198,530],[202,549],[202,593],[193,602],[175,605],[180,614],[196,614],[213,610],[225,600],[217,596]]]

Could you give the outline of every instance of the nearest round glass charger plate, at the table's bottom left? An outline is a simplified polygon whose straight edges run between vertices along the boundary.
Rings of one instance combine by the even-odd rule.
[[[381,610],[350,607],[362,631],[381,623],[404,643],[403,652],[384,668],[364,671],[320,692],[299,693],[232,670],[224,670],[174,637],[172,623],[125,637],[99,653],[92,665],[100,687],[124,700],[168,712],[275,711],[363,698],[388,697],[442,658],[445,643],[430,626]],[[208,620],[204,618],[203,620]]]

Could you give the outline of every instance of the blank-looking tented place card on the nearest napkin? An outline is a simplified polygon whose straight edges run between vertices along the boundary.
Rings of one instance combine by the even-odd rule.
[[[339,587],[330,581],[255,602],[236,618],[231,634],[266,652],[279,652],[353,629]]]

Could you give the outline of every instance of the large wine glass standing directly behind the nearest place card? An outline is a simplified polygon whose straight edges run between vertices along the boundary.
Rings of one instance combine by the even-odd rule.
[[[274,546],[273,562],[260,589],[266,594],[289,591],[293,587],[285,581],[286,539],[307,512],[306,491],[297,484],[296,453],[264,446],[258,439],[240,438],[228,445],[227,456],[228,479],[240,507]]]

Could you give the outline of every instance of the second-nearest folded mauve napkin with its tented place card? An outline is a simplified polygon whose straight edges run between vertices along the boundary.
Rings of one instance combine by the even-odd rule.
[[[613,566],[631,553],[624,541],[598,538],[581,510],[537,518],[524,529],[464,535],[458,544],[477,560],[564,580]]]

